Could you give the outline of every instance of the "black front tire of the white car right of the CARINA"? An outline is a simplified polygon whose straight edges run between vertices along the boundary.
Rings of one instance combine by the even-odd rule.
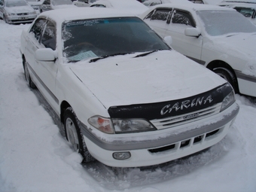
[[[229,82],[233,87],[235,93],[239,93],[237,80],[235,75],[233,75],[233,72],[230,72],[229,69],[221,67],[213,69],[213,72],[215,72],[217,75],[221,76],[221,78],[224,78],[227,82]]]

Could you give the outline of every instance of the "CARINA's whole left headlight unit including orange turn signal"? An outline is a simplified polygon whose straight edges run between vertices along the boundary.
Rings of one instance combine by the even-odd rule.
[[[156,128],[143,119],[110,119],[101,116],[93,116],[88,123],[103,133],[136,133],[156,130]]]

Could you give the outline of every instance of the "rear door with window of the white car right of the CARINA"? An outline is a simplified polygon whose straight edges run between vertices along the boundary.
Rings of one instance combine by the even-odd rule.
[[[151,11],[148,16],[145,17],[145,23],[148,23],[152,29],[154,29],[158,35],[164,37],[166,35],[167,20],[172,13],[172,8],[157,8]]]

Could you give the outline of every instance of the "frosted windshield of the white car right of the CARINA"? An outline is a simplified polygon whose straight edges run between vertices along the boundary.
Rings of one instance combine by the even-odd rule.
[[[206,32],[212,36],[256,32],[256,26],[236,11],[197,11],[197,14],[203,20]]]

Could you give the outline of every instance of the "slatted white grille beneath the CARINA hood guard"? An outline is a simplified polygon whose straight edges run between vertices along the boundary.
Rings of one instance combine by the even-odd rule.
[[[210,106],[209,108],[203,108],[187,114],[180,114],[177,116],[167,117],[163,119],[151,120],[151,123],[154,124],[157,130],[162,130],[210,117],[213,114],[218,114],[220,110],[221,103],[218,103],[216,105]]]

